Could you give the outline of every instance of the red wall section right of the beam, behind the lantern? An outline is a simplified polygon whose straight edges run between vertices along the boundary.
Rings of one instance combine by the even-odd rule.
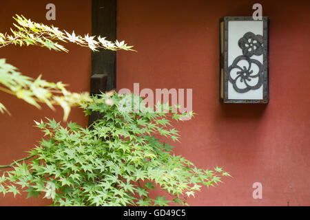
[[[270,103],[220,104],[219,19],[251,16],[254,3],[270,18]],[[190,205],[310,205],[309,10],[310,1],[118,1],[118,39],[138,51],[118,54],[118,89],[192,88],[198,115],[176,124],[176,153],[234,176]]]

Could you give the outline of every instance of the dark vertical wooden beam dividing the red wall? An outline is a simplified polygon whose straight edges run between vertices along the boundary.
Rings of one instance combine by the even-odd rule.
[[[116,41],[116,3],[117,0],[92,0],[92,35],[105,36]],[[101,50],[92,52],[91,94],[116,89],[116,52]],[[99,115],[90,115],[89,124]]]

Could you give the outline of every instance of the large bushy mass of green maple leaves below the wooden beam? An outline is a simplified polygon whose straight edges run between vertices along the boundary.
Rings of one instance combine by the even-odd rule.
[[[116,93],[94,97],[94,103],[82,107],[85,115],[96,111],[101,118],[88,128],[72,122],[66,127],[54,120],[37,122],[47,137],[29,151],[29,162],[16,162],[13,170],[3,173],[0,192],[17,195],[23,190],[28,197],[45,192],[55,206],[185,205],[201,186],[215,186],[229,176],[220,167],[196,168],[158,140],[163,136],[178,141],[169,119],[178,121],[184,114],[151,111],[141,98],[140,111],[134,111],[131,100],[130,95]],[[124,111],[124,105],[132,111]],[[172,201],[149,197],[156,187]]]

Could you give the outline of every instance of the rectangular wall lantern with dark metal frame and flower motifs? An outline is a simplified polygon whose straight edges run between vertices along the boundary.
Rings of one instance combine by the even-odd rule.
[[[220,19],[220,100],[268,103],[269,19]]]

